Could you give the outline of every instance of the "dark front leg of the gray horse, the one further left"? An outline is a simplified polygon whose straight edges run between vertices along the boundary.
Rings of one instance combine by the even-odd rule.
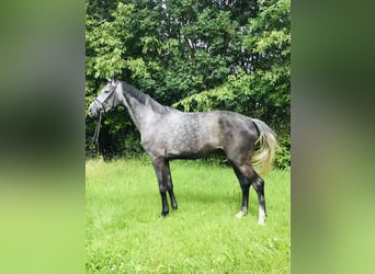
[[[167,202],[167,168],[166,168],[166,159],[156,158],[152,159],[152,165],[158,179],[159,192],[161,197],[161,217],[166,217],[169,214],[169,206]]]

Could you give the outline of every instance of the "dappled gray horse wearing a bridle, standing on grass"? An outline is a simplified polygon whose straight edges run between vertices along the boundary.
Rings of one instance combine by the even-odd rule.
[[[161,195],[161,216],[167,216],[169,193],[173,209],[178,208],[173,193],[170,159],[196,159],[214,151],[224,151],[234,167],[242,190],[241,210],[248,213],[249,190],[258,194],[259,219],[266,217],[264,181],[259,174],[273,163],[277,142],[275,135],[262,121],[227,111],[184,113],[156,102],[149,95],[121,81],[109,80],[89,107],[89,116],[96,117],[118,105],[127,109],[140,133],[140,144],[151,157]],[[252,155],[254,144],[259,149]],[[257,169],[257,171],[253,169]]]

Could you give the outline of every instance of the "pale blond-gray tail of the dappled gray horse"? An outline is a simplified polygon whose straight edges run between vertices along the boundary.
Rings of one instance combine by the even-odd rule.
[[[252,122],[255,124],[259,132],[259,137],[255,140],[255,145],[259,144],[259,148],[251,157],[251,164],[257,172],[262,175],[271,170],[279,145],[276,135],[264,122],[255,118],[252,118]]]

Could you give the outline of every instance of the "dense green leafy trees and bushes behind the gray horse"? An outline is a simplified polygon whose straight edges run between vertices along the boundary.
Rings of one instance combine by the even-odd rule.
[[[105,77],[116,75],[166,105],[261,118],[276,132],[283,159],[277,167],[285,167],[289,9],[289,0],[87,1],[87,103]],[[128,115],[115,111],[105,119],[101,152],[136,153],[139,144],[129,142],[137,133]],[[87,121],[88,136],[93,123]]]

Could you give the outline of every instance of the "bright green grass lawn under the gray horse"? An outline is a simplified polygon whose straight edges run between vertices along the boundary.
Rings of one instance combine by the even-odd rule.
[[[161,202],[150,163],[86,164],[88,273],[289,273],[289,172],[263,176],[269,217],[258,202],[242,219],[231,168],[173,161],[179,209],[159,218]]]

